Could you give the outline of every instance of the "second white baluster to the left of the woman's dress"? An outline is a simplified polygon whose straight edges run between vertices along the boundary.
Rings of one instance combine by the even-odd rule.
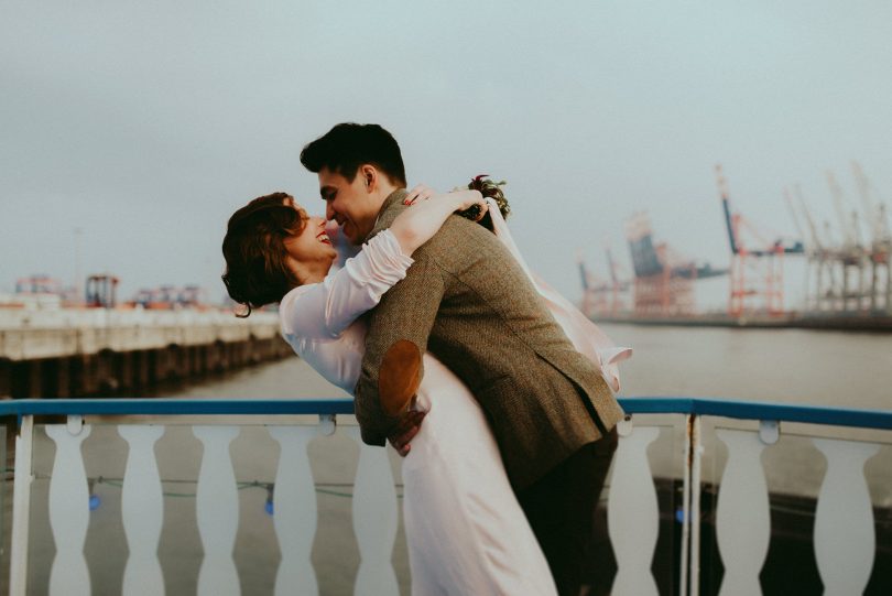
[[[275,575],[276,596],[311,596],[319,593],[309,559],[316,535],[316,489],[309,469],[307,445],[316,435],[308,426],[271,426],[279,442],[273,523],[282,561]]]

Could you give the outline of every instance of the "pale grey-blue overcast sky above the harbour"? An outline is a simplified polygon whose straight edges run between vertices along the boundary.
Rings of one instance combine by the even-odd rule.
[[[826,169],[852,206],[852,160],[892,198],[890,40],[886,0],[0,0],[0,292],[74,283],[79,252],[122,299],[219,299],[229,215],[279,189],[322,213],[298,154],[340,121],[391,130],[410,184],[508,180],[518,243],[568,297],[577,250],[631,270],[638,210],[727,266],[717,162],[788,236],[785,185],[833,216]]]

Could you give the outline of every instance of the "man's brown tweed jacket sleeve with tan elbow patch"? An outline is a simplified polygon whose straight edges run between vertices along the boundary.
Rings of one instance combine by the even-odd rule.
[[[417,391],[422,356],[445,292],[443,273],[424,247],[414,257],[405,279],[384,294],[369,318],[355,408],[362,441],[370,445],[384,444]]]

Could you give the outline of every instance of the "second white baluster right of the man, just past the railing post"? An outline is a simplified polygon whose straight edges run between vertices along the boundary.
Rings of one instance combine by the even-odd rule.
[[[760,455],[764,443],[758,433],[717,430],[728,445],[716,506],[716,540],[725,577],[719,594],[761,594],[759,573],[771,539],[765,473]]]

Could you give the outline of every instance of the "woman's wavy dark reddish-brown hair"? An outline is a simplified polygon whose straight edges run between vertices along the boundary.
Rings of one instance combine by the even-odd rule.
[[[273,193],[251,201],[229,218],[222,242],[226,291],[246,312],[282,300],[301,282],[287,266],[285,238],[297,236],[306,226],[303,209],[286,193]]]

